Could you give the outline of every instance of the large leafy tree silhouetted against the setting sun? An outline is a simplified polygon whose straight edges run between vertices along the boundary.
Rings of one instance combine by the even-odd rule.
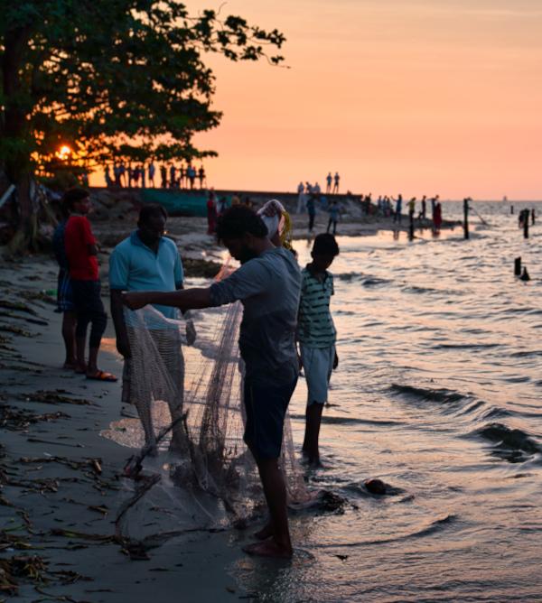
[[[89,167],[113,158],[215,154],[192,136],[220,123],[205,52],[278,64],[285,37],[177,0],[0,0],[0,167],[18,194],[21,245],[31,183],[61,144]]]

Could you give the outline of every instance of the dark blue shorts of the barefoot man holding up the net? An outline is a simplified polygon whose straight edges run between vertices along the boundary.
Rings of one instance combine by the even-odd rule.
[[[278,459],[285,414],[297,376],[285,385],[262,385],[245,377],[245,443],[257,459]]]

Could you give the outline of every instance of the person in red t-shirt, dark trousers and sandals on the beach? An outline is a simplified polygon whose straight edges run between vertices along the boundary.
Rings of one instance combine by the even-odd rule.
[[[70,266],[73,302],[77,313],[75,331],[78,373],[86,373],[88,379],[117,381],[117,377],[98,368],[98,349],[106,330],[107,314],[101,301],[101,283],[98,276],[98,249],[92,234],[89,219],[89,192],[70,189],[64,195],[70,210],[66,223],[64,244]],[[85,362],[87,327],[91,325],[89,337],[89,362]]]

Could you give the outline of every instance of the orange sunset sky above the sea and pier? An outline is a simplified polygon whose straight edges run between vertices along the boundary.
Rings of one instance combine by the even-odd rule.
[[[197,13],[220,3],[188,1]],[[229,0],[285,33],[289,69],[209,55],[210,185],[541,199],[540,0]]]

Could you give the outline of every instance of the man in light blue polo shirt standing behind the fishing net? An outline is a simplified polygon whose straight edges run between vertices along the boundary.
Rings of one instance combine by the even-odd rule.
[[[138,378],[133,370],[129,342],[130,325],[126,325],[121,293],[123,291],[154,291],[156,289],[171,292],[182,289],[182,263],[177,246],[171,239],[164,237],[166,219],[167,212],[161,205],[145,205],[139,213],[137,230],[119,243],[109,258],[111,316],[117,333],[117,350],[125,358],[122,402],[124,404],[135,404],[145,431],[145,443],[151,449],[155,445],[152,413],[150,411],[153,397],[152,385],[142,383],[141,378]],[[179,318],[176,308],[161,305],[155,305],[154,308],[162,312],[167,319],[176,320]],[[161,351],[161,354],[165,355],[167,353],[168,356],[164,358],[164,366],[167,367],[172,376],[173,383],[177,385],[179,399],[167,400],[172,418],[175,419],[180,416],[182,411],[184,381],[184,361],[179,329],[174,328],[173,325],[172,329],[163,329],[155,335],[154,343],[156,347]],[[192,320],[187,320],[186,323],[186,339],[189,344],[192,344],[195,339]],[[178,354],[174,355],[174,362],[171,355],[172,348],[178,350]],[[126,416],[134,416],[134,413],[130,413],[129,407],[126,406],[123,406],[122,413]],[[180,433],[173,431],[173,448],[182,445],[180,441],[177,441],[180,437]]]

